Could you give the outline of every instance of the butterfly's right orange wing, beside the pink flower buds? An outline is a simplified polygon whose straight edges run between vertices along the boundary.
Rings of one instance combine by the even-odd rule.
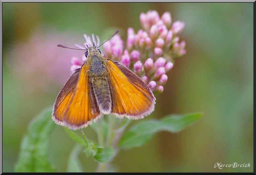
[[[112,113],[132,119],[143,118],[154,110],[155,97],[148,86],[126,67],[109,64]],[[119,67],[120,68],[119,68]]]

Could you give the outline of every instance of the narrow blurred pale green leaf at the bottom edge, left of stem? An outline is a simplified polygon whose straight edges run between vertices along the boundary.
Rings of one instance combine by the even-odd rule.
[[[79,152],[81,151],[82,146],[79,144],[76,144],[75,147],[73,148],[70,158],[69,158],[69,163],[68,163],[68,172],[83,172],[82,164],[78,158]]]

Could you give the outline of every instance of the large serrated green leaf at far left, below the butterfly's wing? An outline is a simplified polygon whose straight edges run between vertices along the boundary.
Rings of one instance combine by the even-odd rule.
[[[28,126],[24,135],[17,163],[16,172],[54,172],[47,160],[49,138],[56,124],[51,119],[52,107],[42,111]]]

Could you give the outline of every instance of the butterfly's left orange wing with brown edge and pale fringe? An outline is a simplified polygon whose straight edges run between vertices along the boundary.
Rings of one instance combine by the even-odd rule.
[[[56,124],[79,129],[99,117],[100,110],[88,76],[89,66],[75,71],[59,92],[53,106],[52,119]]]

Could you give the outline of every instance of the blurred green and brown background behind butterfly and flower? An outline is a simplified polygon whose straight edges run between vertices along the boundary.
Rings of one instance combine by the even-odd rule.
[[[180,35],[187,53],[175,60],[168,82],[148,118],[203,112],[180,133],[157,133],[146,145],[121,150],[113,160],[120,172],[253,172],[253,3],[3,3],[3,172],[13,172],[27,125],[52,106],[69,77],[70,59],[83,34],[141,26],[139,15],[169,11],[184,21]],[[113,29],[114,28],[114,29]],[[108,35],[106,34],[108,33]],[[65,58],[66,59],[63,59]],[[84,129],[88,138],[96,134]],[[75,145],[61,126],[51,135],[49,161],[67,170]],[[92,157],[80,154],[84,171]],[[214,168],[216,162],[250,163]]]

